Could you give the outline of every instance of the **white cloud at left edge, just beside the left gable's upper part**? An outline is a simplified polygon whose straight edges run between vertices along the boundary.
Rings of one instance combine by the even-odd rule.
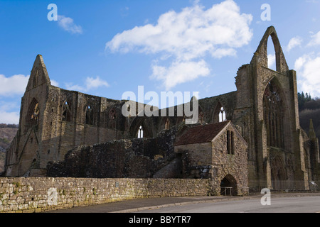
[[[0,74],[0,96],[21,95],[26,91],[29,75],[16,74],[6,77]]]

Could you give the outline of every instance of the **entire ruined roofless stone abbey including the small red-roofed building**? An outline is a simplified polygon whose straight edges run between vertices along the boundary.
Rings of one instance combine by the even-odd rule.
[[[270,36],[276,70],[267,67]],[[198,100],[195,125],[183,116],[125,117],[127,100],[52,86],[38,55],[5,176],[204,178],[217,194],[308,190],[310,181],[320,183],[319,143],[300,128],[296,72],[273,27],[235,84],[235,92]]]

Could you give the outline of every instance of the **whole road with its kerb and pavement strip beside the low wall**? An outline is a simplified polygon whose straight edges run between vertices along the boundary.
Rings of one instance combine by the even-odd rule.
[[[271,194],[271,205],[262,206],[262,195],[244,197],[196,196],[118,201],[46,213],[314,213],[320,211],[320,193]]]

